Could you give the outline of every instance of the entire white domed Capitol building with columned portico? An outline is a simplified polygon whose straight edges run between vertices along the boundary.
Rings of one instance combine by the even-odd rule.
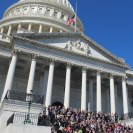
[[[49,105],[127,114],[132,111],[133,70],[125,61],[67,25],[68,0],[20,0],[0,21],[0,128],[13,113]],[[104,38],[103,38],[104,39]]]

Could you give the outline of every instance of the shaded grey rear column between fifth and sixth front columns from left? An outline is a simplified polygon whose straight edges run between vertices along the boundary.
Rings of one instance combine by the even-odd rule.
[[[93,111],[93,80],[89,80],[89,103],[88,111]]]

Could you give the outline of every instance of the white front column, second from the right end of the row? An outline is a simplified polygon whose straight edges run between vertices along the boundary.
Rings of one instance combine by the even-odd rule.
[[[110,75],[110,107],[111,113],[116,113],[115,109],[115,86],[114,86],[114,76]]]

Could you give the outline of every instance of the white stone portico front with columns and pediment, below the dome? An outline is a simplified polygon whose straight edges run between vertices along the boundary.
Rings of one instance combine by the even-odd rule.
[[[72,49],[66,49],[65,46],[69,40],[72,40],[68,37],[70,34],[75,42],[80,38],[79,43],[85,43],[84,45],[88,46],[89,54],[82,53],[82,49],[81,53],[80,50],[75,52]],[[9,70],[7,69],[8,74],[7,71],[5,73],[7,74],[6,82],[8,84],[5,84],[5,89],[4,87],[1,89],[2,101],[7,90],[13,89],[27,93],[33,90],[34,93],[44,98],[44,106],[58,101],[66,107],[77,107],[84,110],[89,109],[89,104],[91,105],[93,102],[91,110],[98,112],[111,111],[121,114],[128,113],[128,110],[132,109],[130,104],[132,86],[128,85],[128,82],[132,80],[132,75],[129,75],[130,78],[125,77],[128,67],[122,60],[111,56],[104,50],[100,51],[101,47],[94,46],[90,40],[84,39],[80,33],[62,33],[62,35],[60,33],[46,33],[41,36],[33,33],[18,35],[20,37],[14,36],[12,40],[14,51],[17,52],[15,54],[17,56],[16,65],[11,65],[13,64],[12,59]],[[37,41],[33,38],[34,36],[39,37]],[[50,39],[43,41],[46,36],[49,36]],[[93,50],[91,50],[92,47]],[[96,52],[93,53],[92,51],[96,51],[101,56],[96,58]],[[11,56],[13,57],[14,54]],[[51,61],[52,63],[50,63]],[[67,64],[69,67],[67,67]],[[9,75],[10,69],[14,69],[14,75]],[[14,80],[8,81],[8,76],[9,79],[14,77]],[[90,80],[93,81],[93,85],[91,85],[93,100],[91,100],[91,103],[89,102]],[[4,86],[5,80],[1,82]],[[9,84],[9,82],[11,83]],[[129,90],[127,90],[128,87]],[[130,94],[125,93],[126,90]],[[123,99],[123,97],[127,99]],[[122,99],[126,100],[127,104],[123,105]],[[117,107],[117,105],[120,107]]]

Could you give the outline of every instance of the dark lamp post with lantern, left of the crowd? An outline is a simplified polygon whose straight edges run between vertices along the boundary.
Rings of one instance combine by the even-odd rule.
[[[25,120],[24,120],[24,124],[31,124],[31,119],[30,119],[30,108],[31,108],[31,104],[33,101],[34,95],[32,92],[28,93],[26,95],[26,102],[28,103],[28,112],[27,115],[25,116]]]

